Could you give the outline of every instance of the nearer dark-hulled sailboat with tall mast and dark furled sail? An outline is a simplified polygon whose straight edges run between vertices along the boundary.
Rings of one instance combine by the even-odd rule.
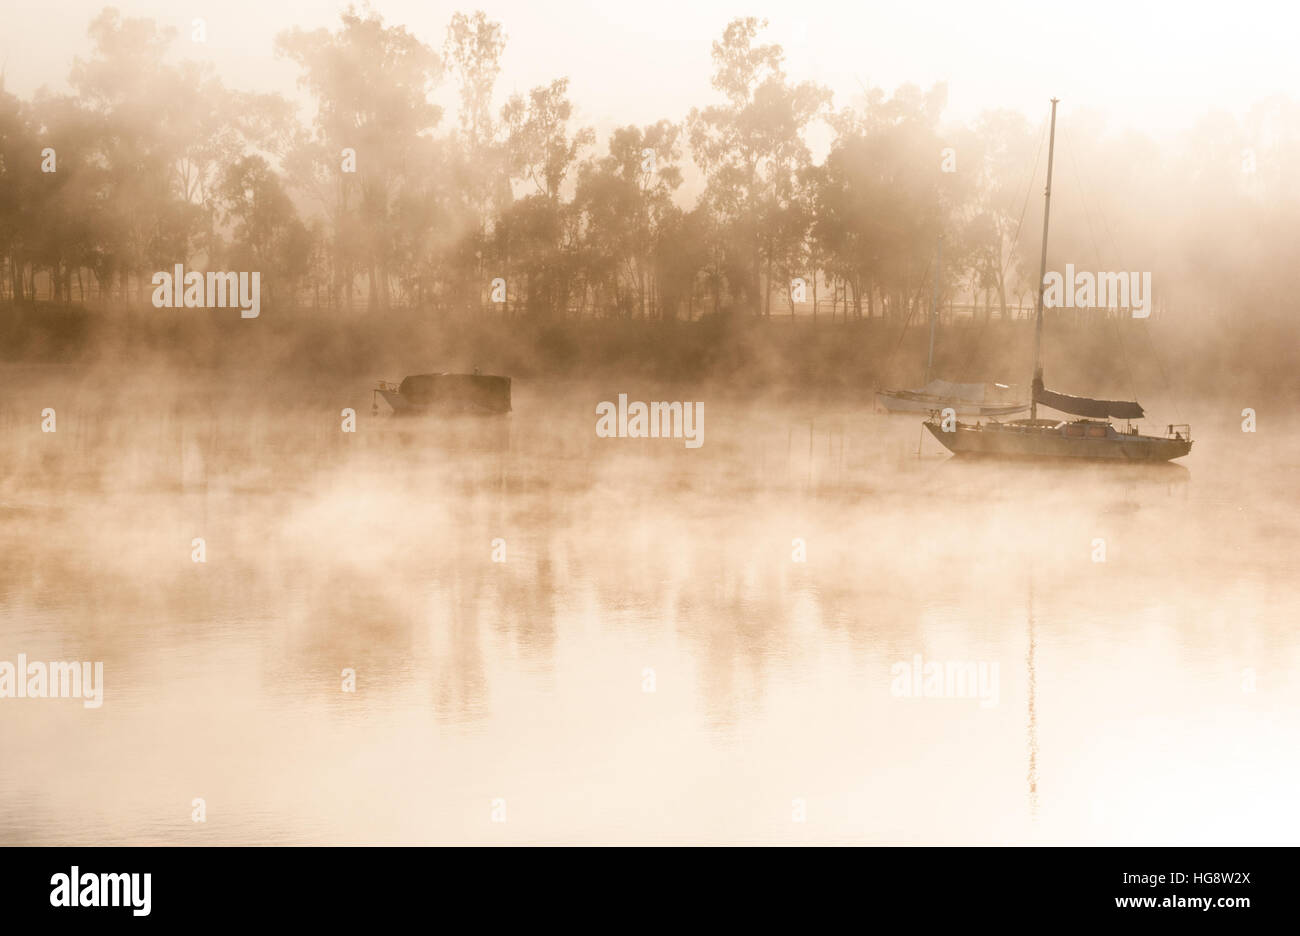
[[[1048,179],[1043,195],[1043,254],[1039,261],[1039,298],[1034,317],[1034,377],[1030,419],[975,425],[958,422],[949,415],[931,413],[923,425],[949,451],[957,455],[1001,458],[1078,458],[1115,462],[1169,462],[1192,450],[1190,425],[1170,425],[1165,436],[1138,432],[1132,420],[1143,417],[1136,402],[1102,400],[1048,390],[1043,385],[1043,291],[1048,265],[1048,222],[1052,216],[1052,161],[1056,151],[1056,105],[1052,99],[1052,131],[1048,143]],[[1076,420],[1039,419],[1039,406],[1057,410]],[[1110,421],[1126,420],[1122,429]]]

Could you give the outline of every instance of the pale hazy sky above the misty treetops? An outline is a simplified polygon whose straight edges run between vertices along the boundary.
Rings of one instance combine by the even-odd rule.
[[[62,87],[72,57],[88,48],[86,25],[103,0],[0,0],[0,60],[9,90]],[[125,16],[176,26],[179,56],[211,60],[231,87],[295,92],[296,72],[272,53],[291,26],[337,23],[346,3],[328,0],[124,0]],[[607,127],[679,120],[711,95],[710,43],[736,16],[770,21],[768,42],[786,49],[796,79],[829,86],[836,104],[861,84],[949,83],[948,118],[1010,107],[1039,118],[1052,95],[1100,110],[1113,125],[1158,133],[1206,110],[1240,113],[1277,92],[1300,94],[1296,5],[1273,3],[1076,4],[846,3],[845,0],[377,0],[387,22],[441,48],[456,9],[481,8],[508,35],[503,99],[569,75],[578,118]],[[205,44],[191,43],[203,17]],[[859,84],[861,82],[861,84]],[[439,95],[451,103],[450,94]]]

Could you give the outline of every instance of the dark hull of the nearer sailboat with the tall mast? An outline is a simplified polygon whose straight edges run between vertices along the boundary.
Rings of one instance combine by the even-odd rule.
[[[924,426],[954,455],[1028,459],[1080,459],[1093,462],[1169,462],[1192,450],[1191,439],[1139,436],[1115,432],[1106,425],[1106,434],[1076,437],[1066,434],[1070,424],[1039,420],[1024,425],[992,424],[972,426],[958,422],[945,432],[937,420]]]

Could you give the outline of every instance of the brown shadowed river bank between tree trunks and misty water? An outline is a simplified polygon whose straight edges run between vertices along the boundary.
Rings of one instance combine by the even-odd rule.
[[[935,376],[1024,382],[1032,322],[945,324]],[[346,320],[266,311],[0,307],[0,358],[8,363],[122,364],[204,369],[312,385],[370,381],[428,370],[502,373],[519,380],[637,378],[716,390],[857,395],[923,380],[928,334],[920,322],[862,320],[567,320],[437,318],[411,311]],[[1165,393],[1300,395],[1292,338],[1270,328],[1049,320],[1048,382],[1096,395]]]

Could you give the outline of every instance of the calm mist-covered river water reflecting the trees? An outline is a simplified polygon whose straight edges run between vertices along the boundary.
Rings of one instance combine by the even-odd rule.
[[[1183,464],[1008,465],[870,396],[516,381],[438,422],[363,385],[4,378],[0,646],[103,660],[104,706],[0,702],[0,840],[1300,835],[1294,425],[1182,400]],[[703,446],[597,438],[618,393],[703,399]],[[900,696],[918,655],[996,696]]]

